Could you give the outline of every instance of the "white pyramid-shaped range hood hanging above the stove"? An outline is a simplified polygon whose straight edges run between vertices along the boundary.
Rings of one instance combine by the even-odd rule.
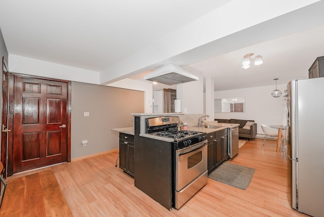
[[[189,81],[197,81],[198,77],[190,74],[177,64],[168,63],[144,76],[144,80],[175,85]]]

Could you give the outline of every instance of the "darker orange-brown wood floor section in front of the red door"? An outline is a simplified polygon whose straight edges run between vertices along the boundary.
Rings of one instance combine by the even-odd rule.
[[[72,212],[52,170],[8,181],[0,216],[64,216]]]

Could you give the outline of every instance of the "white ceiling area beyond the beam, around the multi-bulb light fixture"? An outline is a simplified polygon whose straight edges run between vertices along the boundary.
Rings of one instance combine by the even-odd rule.
[[[308,78],[316,57],[324,56],[324,26],[269,40],[188,65],[215,79],[215,90],[287,84],[292,79]],[[242,69],[243,56],[253,52],[263,64]],[[224,82],[224,80],[226,82]],[[234,84],[233,85],[231,85]]]

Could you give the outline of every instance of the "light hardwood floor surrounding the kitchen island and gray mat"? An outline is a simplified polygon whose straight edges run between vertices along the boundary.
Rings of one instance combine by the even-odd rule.
[[[229,162],[256,169],[247,190],[208,179],[179,210],[167,210],[115,167],[117,152],[57,165],[53,170],[73,216],[307,216],[290,207],[288,164],[276,140],[247,141]],[[14,175],[12,178],[26,174]],[[6,208],[6,207],[2,207]]]

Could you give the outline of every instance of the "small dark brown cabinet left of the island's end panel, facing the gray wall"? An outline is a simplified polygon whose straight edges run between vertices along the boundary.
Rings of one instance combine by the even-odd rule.
[[[119,133],[119,168],[134,177],[134,135]]]

